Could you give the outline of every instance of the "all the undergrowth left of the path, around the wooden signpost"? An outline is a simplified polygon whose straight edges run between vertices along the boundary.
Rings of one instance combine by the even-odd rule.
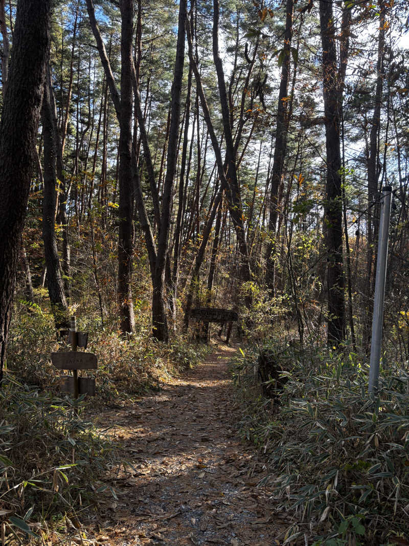
[[[4,544],[44,544],[51,536],[64,537],[67,522],[72,529],[83,511],[96,509],[107,489],[104,477],[127,462],[111,441],[112,431],[95,428],[87,416],[95,407],[131,403],[158,389],[160,382],[194,367],[210,350],[182,338],[169,345],[154,342],[144,320],[135,335],[124,339],[114,318],[101,328],[98,318],[77,313],[78,329],[88,331],[87,351],[97,355],[98,369],[79,374],[95,377],[96,396],[74,403],[59,390],[60,376],[69,372],[51,364],[52,352],[69,350],[67,340],[57,341],[46,306],[17,303],[0,389]],[[107,494],[116,495],[113,490]]]

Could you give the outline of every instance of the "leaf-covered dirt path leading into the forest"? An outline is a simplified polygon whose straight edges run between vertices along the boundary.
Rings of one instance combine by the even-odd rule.
[[[285,521],[273,514],[271,492],[257,488],[262,462],[236,432],[240,412],[228,375],[236,350],[217,349],[159,393],[99,414],[99,423],[120,428],[135,472],[107,482],[118,500],[104,495],[87,525],[88,544],[282,543]]]

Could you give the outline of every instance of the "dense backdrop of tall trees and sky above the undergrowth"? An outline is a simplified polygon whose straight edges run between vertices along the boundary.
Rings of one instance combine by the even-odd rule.
[[[368,350],[393,186],[386,334],[406,355],[405,3],[78,0],[50,32],[19,282],[48,288],[57,328],[86,282],[123,334],[135,305],[166,341],[227,298],[252,335],[291,316],[301,341]]]

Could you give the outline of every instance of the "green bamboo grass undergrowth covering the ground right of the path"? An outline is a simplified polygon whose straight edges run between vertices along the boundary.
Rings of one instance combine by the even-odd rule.
[[[265,454],[279,512],[294,523],[284,544],[406,543],[409,521],[409,374],[382,371],[368,396],[368,366],[354,353],[268,346],[288,381],[266,400],[258,350],[236,363],[240,431]],[[396,538],[397,537],[397,538]]]

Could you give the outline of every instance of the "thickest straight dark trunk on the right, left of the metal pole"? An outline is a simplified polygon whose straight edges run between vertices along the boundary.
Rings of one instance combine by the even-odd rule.
[[[338,61],[332,3],[320,0],[323,98],[327,146],[327,186],[324,224],[327,248],[328,343],[344,339],[345,296],[342,264],[342,188]]]

